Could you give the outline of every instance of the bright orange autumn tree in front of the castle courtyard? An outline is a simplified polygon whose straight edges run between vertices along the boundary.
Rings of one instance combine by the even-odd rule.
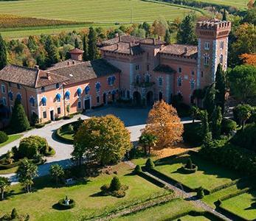
[[[171,147],[174,142],[182,140],[183,131],[183,124],[181,124],[176,109],[163,100],[155,102],[148,113],[148,122],[144,131],[156,136],[157,141],[154,148],[161,150]]]

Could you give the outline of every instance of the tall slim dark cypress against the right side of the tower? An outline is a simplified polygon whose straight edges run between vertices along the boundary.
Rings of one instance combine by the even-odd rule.
[[[224,71],[222,70],[221,64],[218,64],[218,68],[215,75],[215,104],[221,107],[221,113],[224,113],[225,108],[225,94],[226,94],[226,83]]]

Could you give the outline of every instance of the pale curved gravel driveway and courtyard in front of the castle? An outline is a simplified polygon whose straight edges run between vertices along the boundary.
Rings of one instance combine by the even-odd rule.
[[[70,161],[71,158],[71,152],[73,150],[72,144],[63,144],[59,141],[56,141],[55,138],[52,136],[54,131],[57,130],[59,127],[61,127],[63,124],[67,124],[69,122],[75,122],[79,117],[82,119],[88,119],[90,116],[105,116],[106,114],[114,114],[115,116],[118,116],[120,119],[122,119],[123,122],[125,122],[125,126],[128,128],[128,130],[131,132],[131,141],[138,141],[138,138],[141,134],[141,130],[145,127],[145,122],[148,117],[148,111],[149,109],[125,109],[125,108],[100,108],[94,111],[89,111],[85,115],[80,114],[74,116],[72,119],[69,120],[60,120],[58,122],[52,122],[51,124],[46,124],[45,127],[40,129],[33,129],[29,130],[26,133],[24,133],[24,137],[27,136],[41,136],[46,138],[48,144],[55,149],[56,154],[53,157],[47,158],[47,161],[45,164],[42,164],[38,166],[38,175],[43,176],[49,173],[49,168],[52,164],[60,164],[63,167],[70,166],[72,164],[72,161]],[[183,119],[182,123],[191,122],[189,119]],[[7,144],[4,147],[0,148],[0,155],[6,153],[8,150],[11,150],[12,147],[17,146],[19,144],[18,139],[16,141],[13,141],[10,144]],[[17,183],[16,175],[8,174],[8,175],[0,175],[7,178],[10,178],[12,181],[12,184]]]

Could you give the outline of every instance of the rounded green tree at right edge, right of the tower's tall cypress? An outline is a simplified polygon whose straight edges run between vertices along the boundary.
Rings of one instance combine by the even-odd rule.
[[[256,67],[236,66],[229,72],[231,93],[241,102],[247,102],[250,97],[256,96]]]

